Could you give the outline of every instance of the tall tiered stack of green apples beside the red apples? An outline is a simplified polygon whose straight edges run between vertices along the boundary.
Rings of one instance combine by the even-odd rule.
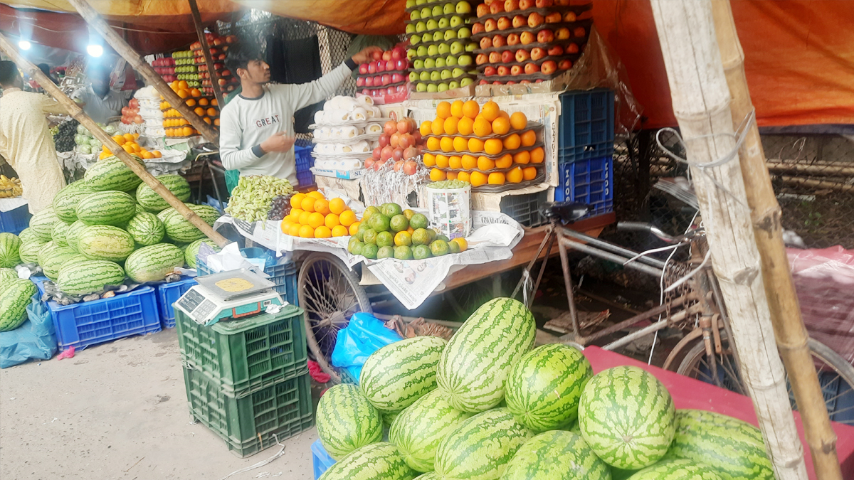
[[[415,91],[448,91],[475,83],[477,44],[468,24],[472,11],[466,0],[407,0],[409,80]]]

